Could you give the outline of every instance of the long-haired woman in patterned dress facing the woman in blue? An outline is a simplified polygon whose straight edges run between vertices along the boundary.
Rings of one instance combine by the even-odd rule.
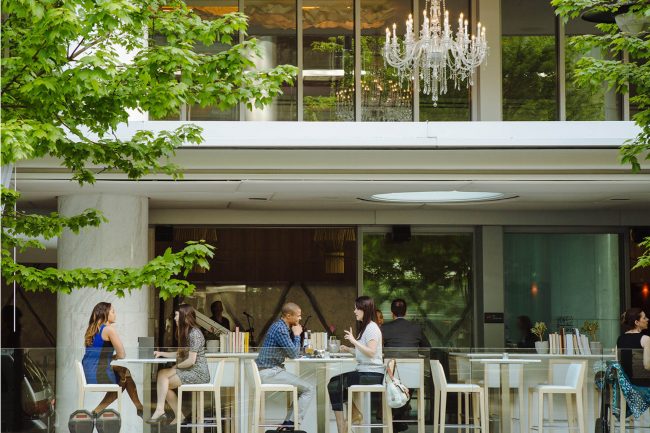
[[[158,400],[156,410],[151,414],[148,424],[157,424],[165,418],[165,400],[174,411],[176,424],[183,419],[182,413],[176,413],[178,397],[173,391],[182,384],[208,383],[210,372],[205,358],[205,338],[196,324],[196,313],[189,304],[181,304],[174,314],[176,321],[176,337],[178,350],[176,352],[154,352],[155,357],[176,357],[176,366],[158,371],[156,389]]]

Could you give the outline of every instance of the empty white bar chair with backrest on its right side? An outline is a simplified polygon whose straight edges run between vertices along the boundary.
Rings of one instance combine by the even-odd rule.
[[[532,431],[533,420],[533,398],[535,393],[538,394],[538,411],[537,411],[537,430],[539,433],[544,429],[544,395],[549,397],[549,401],[555,394],[564,394],[567,397],[567,422],[569,426],[573,423],[573,401],[572,396],[575,395],[577,418],[578,418],[578,431],[585,433],[585,418],[584,418],[584,401],[583,401],[583,383],[585,380],[585,370],[587,363],[585,361],[572,361],[566,368],[564,377],[554,377],[551,384],[542,384],[531,387],[528,389],[528,431]],[[554,376],[557,376],[554,374]]]

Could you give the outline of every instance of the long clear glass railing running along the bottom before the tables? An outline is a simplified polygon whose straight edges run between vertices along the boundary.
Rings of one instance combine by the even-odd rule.
[[[593,426],[599,415],[600,391],[596,385],[598,378],[603,376],[600,372],[616,359],[612,348],[590,355],[550,354],[544,347],[539,350],[547,353],[537,353],[532,348],[503,347],[385,348],[384,361],[373,362],[368,357],[357,360],[354,354],[331,345],[314,348],[308,355],[301,353],[295,359],[285,359],[287,352],[280,348],[265,349],[260,356],[259,348],[249,348],[248,352],[222,353],[212,346],[205,352],[199,352],[196,368],[178,368],[175,374],[170,375],[169,369],[177,368],[178,364],[186,367],[191,362],[182,359],[183,353],[177,360],[175,348],[166,350],[172,357],[154,358],[151,348],[127,347],[124,359],[112,361],[114,367],[121,367],[110,369],[116,373],[118,383],[132,383],[134,386],[133,389],[127,387],[122,394],[119,410],[121,432],[157,431],[155,423],[151,425],[145,421],[155,415],[156,408],[161,406],[166,413],[160,419],[161,425],[168,429],[175,429],[167,426],[180,420],[187,428],[201,428],[200,424],[204,425],[203,428],[214,427],[215,422],[221,422],[226,432],[275,430],[285,419],[295,420],[295,417],[287,414],[287,402],[293,399],[292,393],[266,386],[284,384],[297,387],[299,419],[303,430],[335,433],[334,410],[344,409],[343,416],[348,417],[348,385],[377,385],[371,388],[379,392],[384,390],[384,364],[389,359],[397,360],[394,377],[399,378],[411,394],[404,407],[391,411],[393,422],[396,423],[394,431],[417,432],[418,423],[430,428],[436,402],[434,390],[445,389],[442,380],[449,384],[476,385],[484,390],[489,415],[486,422],[490,423],[490,431],[493,432],[529,431],[529,421],[533,426],[537,425],[538,406],[534,394],[533,409],[529,411],[528,390],[535,390],[540,384],[566,385],[578,380],[575,383],[581,383],[584,390],[584,422],[586,426]],[[92,386],[83,387],[81,376],[83,371],[90,384],[102,381],[101,378],[107,376],[106,371],[100,371],[101,366],[93,366],[91,362],[83,363],[79,369],[78,363],[82,361],[83,354],[81,347],[3,348],[2,431],[68,432],[73,412],[79,409],[92,412],[106,406],[101,403],[102,400],[105,403],[108,401],[106,392],[96,392]],[[619,354],[620,359],[628,359],[627,355],[621,356]],[[642,352],[640,356],[635,352],[629,358],[634,368],[638,370],[640,366],[641,370],[637,372],[645,374]],[[256,362],[258,357],[260,359]],[[578,367],[574,367],[576,365]],[[204,366],[207,366],[207,373]],[[105,370],[107,366],[103,367]],[[576,374],[579,375],[577,379],[574,377]],[[157,381],[161,380],[160,377],[172,377],[169,383],[174,386],[177,384],[174,376],[180,377],[181,383],[205,384],[202,387],[205,391],[203,411],[198,409],[193,414],[192,400],[196,403],[201,400],[185,391],[182,394],[182,416],[175,415],[177,406],[173,396],[164,405],[162,399],[159,402]],[[650,374],[647,376],[650,379]],[[267,389],[268,392],[263,395],[261,391]],[[133,390],[135,392],[129,393]],[[215,403],[215,390],[220,395],[220,403]],[[448,391],[444,408],[446,424],[466,421],[470,424],[480,423],[480,410],[476,409],[471,399],[466,401],[463,395],[459,397]],[[376,428],[384,423],[387,411],[386,407],[382,407],[381,393],[372,398],[363,395],[364,392],[355,392],[353,399],[353,421],[361,423],[355,431],[363,431],[366,424]],[[577,411],[571,410],[575,406],[567,406],[564,398],[556,399],[553,404],[549,407],[545,403],[545,428],[547,422],[550,426],[560,426],[560,429],[562,425],[569,426],[568,418],[572,417],[568,415],[577,414]],[[220,408],[215,409],[215,405]],[[139,411],[140,407],[142,412]],[[111,402],[107,408],[118,411],[117,402]],[[263,415],[259,413],[261,410]],[[549,419],[549,413],[552,419]],[[220,421],[215,421],[215,418]],[[259,430],[256,430],[256,425]],[[365,431],[369,432],[370,428]],[[183,431],[188,430],[184,427]]]

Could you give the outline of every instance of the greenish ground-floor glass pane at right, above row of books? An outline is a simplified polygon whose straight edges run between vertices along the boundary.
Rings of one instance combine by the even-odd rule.
[[[613,347],[619,333],[619,242],[616,234],[506,233],[506,340],[519,342],[517,317],[543,321],[549,332],[600,325]]]

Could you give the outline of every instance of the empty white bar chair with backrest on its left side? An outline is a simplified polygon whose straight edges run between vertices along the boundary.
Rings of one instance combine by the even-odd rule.
[[[445,371],[440,361],[431,360],[431,375],[433,376],[434,390],[434,410],[433,410],[433,432],[444,433],[445,418],[447,412],[447,394],[472,394],[474,397],[474,424],[480,419],[479,425],[481,433],[487,433],[488,423],[485,414],[485,392],[483,387],[471,383],[447,383]],[[478,401],[477,401],[478,398]],[[477,414],[479,414],[477,416]],[[459,419],[460,422],[460,419]]]

